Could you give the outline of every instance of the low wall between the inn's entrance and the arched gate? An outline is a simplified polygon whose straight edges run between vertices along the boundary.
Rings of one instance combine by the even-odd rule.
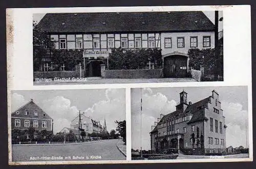
[[[104,78],[162,78],[163,69],[104,70]]]

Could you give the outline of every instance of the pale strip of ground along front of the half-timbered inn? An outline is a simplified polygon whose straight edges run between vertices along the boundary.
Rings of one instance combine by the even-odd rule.
[[[113,84],[113,83],[159,83],[159,82],[190,82],[193,78],[101,78],[88,77],[84,81],[34,81],[34,85],[89,85],[89,84]]]

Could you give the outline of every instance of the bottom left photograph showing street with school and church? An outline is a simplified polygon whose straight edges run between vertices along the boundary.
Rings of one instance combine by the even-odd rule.
[[[10,108],[12,162],[126,159],[125,89],[12,91]]]

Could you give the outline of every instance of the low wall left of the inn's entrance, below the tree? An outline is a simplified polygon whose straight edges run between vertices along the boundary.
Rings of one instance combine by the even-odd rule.
[[[82,77],[84,73],[82,71]],[[48,71],[48,72],[34,72],[33,80],[36,78],[72,78],[72,77],[80,77],[79,71]]]

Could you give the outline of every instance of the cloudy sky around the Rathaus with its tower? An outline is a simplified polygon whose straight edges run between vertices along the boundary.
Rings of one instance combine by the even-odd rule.
[[[221,108],[225,116],[226,147],[246,147],[246,132],[248,138],[248,102],[247,87],[185,87],[185,88],[140,88],[131,89],[131,120],[132,148],[140,149],[140,134],[142,149],[150,150],[150,131],[160,114],[167,115],[176,110],[180,102],[179,93],[187,92],[187,101],[193,103],[211,96],[211,91],[219,93]],[[141,95],[140,95],[141,93]],[[140,96],[142,96],[142,115],[140,118]],[[140,121],[142,121],[140,123]],[[140,132],[140,124],[142,133]],[[247,124],[247,125],[246,125]],[[139,139],[138,139],[139,138]],[[247,139],[248,145],[248,139]]]

